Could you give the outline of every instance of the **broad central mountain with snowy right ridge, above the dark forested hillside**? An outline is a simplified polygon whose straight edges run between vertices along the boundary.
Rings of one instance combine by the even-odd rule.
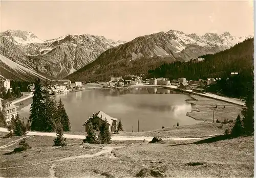
[[[72,81],[107,81],[109,75],[141,74],[163,63],[188,61],[230,48],[248,37],[206,33],[186,35],[170,30],[135,38],[102,53],[95,61],[70,74]]]

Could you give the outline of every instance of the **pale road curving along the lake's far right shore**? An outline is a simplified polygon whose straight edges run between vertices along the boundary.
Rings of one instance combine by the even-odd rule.
[[[163,88],[170,88],[170,89],[178,89],[180,91],[184,91],[190,94],[196,94],[196,95],[200,95],[203,97],[208,97],[208,98],[212,98],[212,99],[218,99],[218,100],[222,100],[222,101],[226,101],[227,103],[232,103],[235,105],[239,105],[239,106],[245,106],[245,102],[241,101],[239,99],[236,98],[229,98],[229,97],[224,97],[224,96],[219,96],[217,94],[212,94],[212,93],[198,93],[198,92],[194,92],[192,90],[183,90],[178,88],[177,86],[174,85],[148,85],[148,84],[137,84],[137,85],[131,85],[130,88],[136,88],[136,87],[163,87]]]

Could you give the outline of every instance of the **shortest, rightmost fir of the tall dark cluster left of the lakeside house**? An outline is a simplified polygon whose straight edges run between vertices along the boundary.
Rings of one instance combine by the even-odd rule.
[[[63,126],[63,131],[69,132],[71,130],[70,121],[61,99],[59,99],[57,117]]]

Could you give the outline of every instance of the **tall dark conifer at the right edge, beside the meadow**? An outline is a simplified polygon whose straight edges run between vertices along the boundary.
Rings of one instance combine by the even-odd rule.
[[[243,108],[242,114],[243,118],[243,125],[244,125],[244,134],[245,135],[253,135],[254,133],[254,81],[251,77],[246,86],[246,97],[245,97],[245,105],[246,107]]]

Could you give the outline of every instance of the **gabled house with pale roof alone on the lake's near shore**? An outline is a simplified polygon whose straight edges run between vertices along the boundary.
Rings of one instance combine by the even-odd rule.
[[[84,122],[83,126],[86,126],[86,132],[89,128],[89,123],[91,122],[94,126],[97,125],[100,128],[102,122],[106,120],[109,125],[110,132],[115,132],[117,127],[117,119],[109,116],[108,114],[104,113],[103,111],[99,111],[96,114],[93,114],[92,117],[89,117],[86,122]]]

